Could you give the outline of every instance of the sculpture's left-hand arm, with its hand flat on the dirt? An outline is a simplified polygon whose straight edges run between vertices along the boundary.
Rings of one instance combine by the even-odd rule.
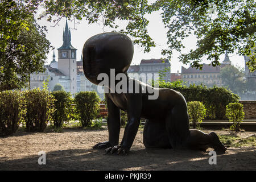
[[[113,101],[108,97],[108,94],[105,94],[105,98],[108,105],[108,131],[109,131],[109,140],[98,143],[93,148],[108,148],[118,145],[119,143],[119,133],[121,127],[120,119],[120,110],[113,103]]]

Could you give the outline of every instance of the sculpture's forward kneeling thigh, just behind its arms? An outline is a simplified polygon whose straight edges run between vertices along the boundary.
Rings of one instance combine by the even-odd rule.
[[[146,148],[171,148],[166,124],[146,119],[143,129],[143,144]]]

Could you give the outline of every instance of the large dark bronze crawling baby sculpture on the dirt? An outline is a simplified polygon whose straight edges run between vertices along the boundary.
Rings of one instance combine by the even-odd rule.
[[[107,32],[92,36],[82,49],[83,66],[86,78],[99,85],[101,73],[109,76],[123,74],[126,78],[127,92],[115,92],[117,80],[109,81],[105,86],[108,105],[109,140],[98,143],[93,148],[106,148],[106,154],[126,154],[137,134],[140,118],[145,118],[143,143],[145,147],[188,148],[207,150],[208,147],[220,154],[226,147],[220,142],[216,133],[203,133],[189,130],[187,103],[185,98],[172,89],[152,88],[141,81],[127,76],[127,69],[133,59],[133,42],[129,37],[117,32]],[[114,69],[114,73],[113,73]],[[109,78],[109,79],[110,79]],[[136,85],[139,92],[135,91]],[[158,97],[150,99],[152,92]],[[137,90],[138,91],[138,90]],[[120,109],[127,112],[127,124],[122,142],[119,144]]]

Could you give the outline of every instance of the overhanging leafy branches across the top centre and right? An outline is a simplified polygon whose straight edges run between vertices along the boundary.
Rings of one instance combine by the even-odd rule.
[[[206,58],[213,66],[220,65],[220,55],[238,53],[250,57],[247,65],[256,68],[256,4],[254,0],[159,0],[148,3],[147,0],[46,0],[48,20],[57,15],[62,17],[95,23],[104,19],[104,25],[118,28],[115,20],[126,20],[126,28],[120,30],[133,37],[135,44],[150,51],[155,46],[147,31],[146,14],[160,11],[162,22],[167,28],[168,49],[162,54],[171,59],[174,49],[182,52],[183,40],[190,34],[197,37],[197,48],[180,53],[179,59],[184,64],[192,61],[192,66],[201,68],[201,60]]]

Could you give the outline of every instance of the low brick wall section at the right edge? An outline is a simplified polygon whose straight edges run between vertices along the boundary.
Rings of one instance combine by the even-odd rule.
[[[243,105],[245,119],[256,119],[256,101],[239,101]]]

